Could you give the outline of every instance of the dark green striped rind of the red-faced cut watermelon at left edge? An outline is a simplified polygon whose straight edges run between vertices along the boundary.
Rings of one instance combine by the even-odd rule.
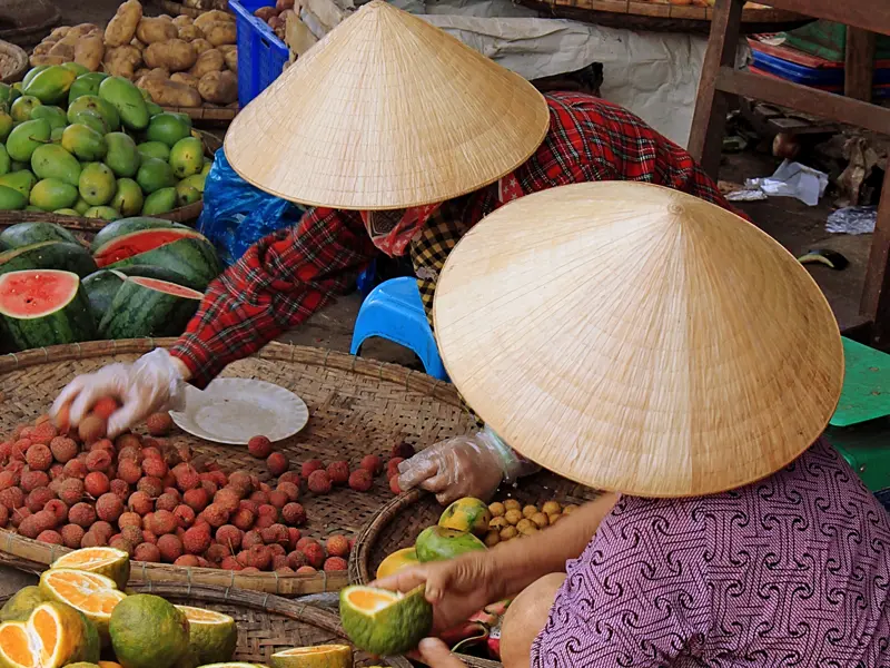
[[[47,272],[47,269],[39,269]],[[0,276],[0,294],[2,294],[7,276],[31,273],[31,271],[9,272]],[[4,334],[9,336],[16,351],[80,343],[96,338],[96,322],[92,320],[90,303],[80,279],[72,272],[58,272],[77,281],[77,289],[63,304],[44,315],[26,316],[11,313],[0,306],[0,318]]]

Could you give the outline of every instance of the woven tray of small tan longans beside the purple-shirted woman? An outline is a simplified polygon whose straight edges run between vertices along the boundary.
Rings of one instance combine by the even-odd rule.
[[[555,473],[542,472],[521,480],[515,487],[502,488],[494,500],[518,499],[523,505],[541,504],[544,501],[582,504],[596,497],[596,490],[560,478]],[[349,556],[349,582],[366,584],[374,580],[380,562],[396,550],[413,546],[421,531],[438,522],[442,511],[443,508],[433,494],[419,490],[411,490],[389,501],[355,541],[355,548]],[[473,655],[458,656],[475,668],[501,666],[497,661]]]

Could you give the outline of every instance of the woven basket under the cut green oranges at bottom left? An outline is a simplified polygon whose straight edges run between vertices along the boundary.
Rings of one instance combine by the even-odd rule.
[[[268,665],[271,655],[290,647],[350,645],[336,615],[277,596],[226,587],[182,587],[160,582],[135,586],[131,593],[154,593],[175,605],[216,610],[233,617],[238,629],[236,661]],[[358,650],[355,665],[411,668],[403,657],[372,659]]]

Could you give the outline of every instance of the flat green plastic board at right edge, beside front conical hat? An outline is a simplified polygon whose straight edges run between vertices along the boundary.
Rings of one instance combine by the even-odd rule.
[[[843,338],[844,377],[832,426],[890,415],[890,355]]]

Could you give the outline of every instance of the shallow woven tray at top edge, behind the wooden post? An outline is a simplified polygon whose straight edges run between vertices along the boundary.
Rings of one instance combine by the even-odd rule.
[[[548,16],[574,19],[611,28],[708,32],[714,10],[635,0],[518,0]],[[773,8],[745,8],[741,29],[744,33],[779,32],[809,23],[813,19]]]

